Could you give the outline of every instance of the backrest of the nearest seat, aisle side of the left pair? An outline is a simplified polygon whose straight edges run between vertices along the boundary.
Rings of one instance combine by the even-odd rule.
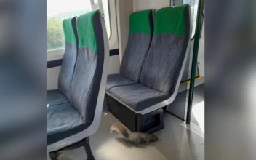
[[[84,121],[92,123],[105,56],[100,12],[93,11],[80,15],[76,23],[79,51],[71,82],[71,97],[68,99],[81,113]]]

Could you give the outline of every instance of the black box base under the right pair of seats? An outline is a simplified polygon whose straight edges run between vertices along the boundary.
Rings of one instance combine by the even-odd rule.
[[[142,115],[122,105],[105,94],[109,111],[132,132],[154,133],[164,129],[163,110],[158,109]]]

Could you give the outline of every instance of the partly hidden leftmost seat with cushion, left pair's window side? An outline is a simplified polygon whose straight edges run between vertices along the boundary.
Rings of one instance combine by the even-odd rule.
[[[76,47],[78,42],[76,17],[63,20],[63,30],[65,35],[65,52],[59,73],[58,89],[47,91],[47,105],[68,103],[68,96],[70,96],[69,88],[76,65]]]

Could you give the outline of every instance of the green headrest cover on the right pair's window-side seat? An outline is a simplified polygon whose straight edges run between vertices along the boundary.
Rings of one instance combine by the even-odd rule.
[[[133,12],[129,16],[129,33],[143,32],[151,34],[149,14],[152,10]],[[151,15],[152,16],[152,15]]]

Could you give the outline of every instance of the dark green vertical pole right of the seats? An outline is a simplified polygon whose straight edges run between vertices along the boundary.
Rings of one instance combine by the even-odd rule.
[[[189,87],[189,95],[188,95],[188,110],[187,110],[187,119],[186,124],[191,123],[191,110],[192,110],[192,102],[193,102],[193,87],[195,84],[195,76],[196,76],[196,65],[197,65],[197,55],[199,52],[199,39],[201,36],[201,23],[203,17],[204,10],[204,0],[199,0],[199,8],[196,15],[196,33],[193,44],[193,59],[192,59],[192,67],[191,67],[191,83]]]

